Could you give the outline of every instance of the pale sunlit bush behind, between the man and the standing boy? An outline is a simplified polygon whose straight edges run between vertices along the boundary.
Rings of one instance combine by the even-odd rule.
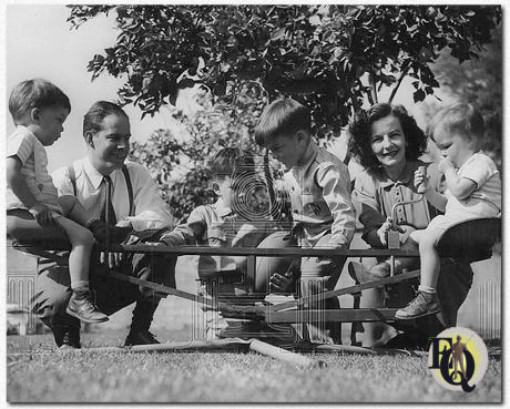
[[[249,132],[262,104],[251,95],[245,89],[238,98],[239,119],[224,115],[207,99],[201,99],[203,109],[192,117],[173,111],[175,124],[181,126],[156,130],[145,143],[132,144],[131,159],[151,171],[176,223],[194,207],[213,202],[207,162],[217,151],[238,146],[261,153]]]

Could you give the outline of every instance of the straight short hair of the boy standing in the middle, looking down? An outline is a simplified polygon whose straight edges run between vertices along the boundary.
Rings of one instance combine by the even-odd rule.
[[[266,106],[255,126],[255,141],[265,146],[279,135],[293,135],[297,131],[310,132],[310,112],[299,102],[285,98]]]

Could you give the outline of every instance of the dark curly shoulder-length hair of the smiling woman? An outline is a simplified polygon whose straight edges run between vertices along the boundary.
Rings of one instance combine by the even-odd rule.
[[[416,124],[415,119],[407,113],[407,110],[402,105],[378,103],[367,111],[358,111],[348,126],[349,153],[363,167],[380,167],[380,163],[371,149],[371,124],[390,115],[400,121],[406,139],[406,159],[416,161],[426,152],[427,135]]]

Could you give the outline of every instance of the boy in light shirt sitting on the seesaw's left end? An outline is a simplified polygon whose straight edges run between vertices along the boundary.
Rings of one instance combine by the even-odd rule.
[[[85,321],[103,323],[108,316],[91,299],[89,263],[94,237],[83,226],[102,229],[73,196],[58,197],[48,174],[44,146],[52,145],[63,131],[71,112],[69,98],[54,84],[41,79],[18,84],[9,99],[17,129],[7,140],[7,227],[24,232],[23,238],[43,239],[62,229],[71,242],[69,270],[72,295],[67,313]]]

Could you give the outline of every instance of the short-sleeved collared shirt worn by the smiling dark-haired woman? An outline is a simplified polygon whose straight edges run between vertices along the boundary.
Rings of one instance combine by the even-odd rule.
[[[439,174],[436,166],[429,166],[421,161],[408,161],[397,181],[389,178],[381,167],[365,170],[356,176],[353,196],[360,206],[359,222],[364,226],[361,237],[369,245],[381,246],[376,232],[386,218],[391,216],[396,203],[416,201],[420,197],[414,185],[415,171],[420,166],[427,166],[429,183],[437,187]],[[399,225],[426,228],[437,214],[438,211],[424,198],[419,203],[399,206],[395,222]]]

